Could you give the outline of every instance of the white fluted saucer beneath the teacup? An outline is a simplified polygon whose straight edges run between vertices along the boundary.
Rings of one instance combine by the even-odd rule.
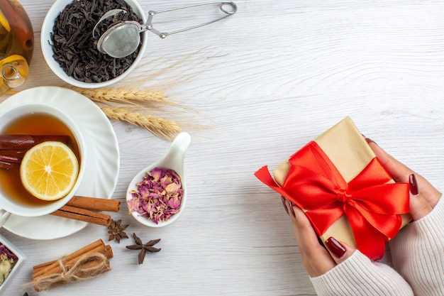
[[[87,170],[76,195],[110,199],[116,189],[120,155],[118,142],[109,119],[90,99],[62,87],[26,89],[0,104],[0,113],[28,102],[45,102],[67,114],[82,131],[87,143]],[[45,215],[11,215],[4,228],[28,239],[59,239],[84,229],[87,222]]]

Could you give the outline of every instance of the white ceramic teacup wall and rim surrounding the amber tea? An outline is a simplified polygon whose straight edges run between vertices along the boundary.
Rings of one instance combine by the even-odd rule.
[[[9,99],[14,98],[11,97]],[[30,116],[31,114],[48,114],[49,116],[55,117],[58,121],[61,121],[70,130],[79,149],[79,173],[72,190],[65,197],[57,199],[53,202],[39,202],[38,204],[21,202],[18,199],[11,197],[11,195],[20,195],[21,191],[11,194],[9,190],[6,190],[6,187],[0,185],[1,212],[6,212],[5,214],[10,213],[18,216],[43,216],[55,212],[57,209],[60,209],[60,207],[64,206],[68,201],[70,201],[79,188],[79,185],[82,183],[82,178],[84,176],[88,158],[84,136],[71,117],[60,109],[57,109],[55,106],[45,103],[20,104],[12,109],[9,109],[9,111],[0,113],[0,134],[4,133],[4,131],[9,128],[9,124],[11,124],[13,121],[17,121],[23,116]],[[45,133],[44,130],[42,132]],[[7,219],[8,217],[9,216],[7,215],[2,216],[3,219]]]

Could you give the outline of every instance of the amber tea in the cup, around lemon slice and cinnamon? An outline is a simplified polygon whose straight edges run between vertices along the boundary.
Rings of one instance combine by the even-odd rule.
[[[3,1],[3,0],[0,0]],[[77,159],[79,158],[79,146],[75,142],[75,137],[70,129],[60,120],[50,114],[33,113],[27,114],[16,121],[11,122],[1,131],[3,135],[66,135],[70,136],[72,143],[68,146],[72,148]],[[23,157],[25,151],[1,151],[2,154],[12,154]],[[20,203],[26,206],[38,206],[47,204],[48,202],[38,199],[31,195],[25,187],[23,187],[20,178],[20,170],[0,168],[0,190]]]

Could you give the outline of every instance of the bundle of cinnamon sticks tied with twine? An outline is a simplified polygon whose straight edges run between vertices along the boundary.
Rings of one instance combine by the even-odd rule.
[[[111,246],[99,239],[58,260],[35,265],[30,285],[39,292],[57,285],[95,278],[111,270],[110,258],[113,258]]]

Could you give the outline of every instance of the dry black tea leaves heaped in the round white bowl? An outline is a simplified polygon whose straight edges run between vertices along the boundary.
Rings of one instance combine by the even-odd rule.
[[[102,21],[93,29],[101,16],[111,9],[123,9]],[[127,57],[114,58],[97,50],[97,41],[107,28],[122,21],[138,21],[131,6],[123,0],[75,0],[55,18],[51,33],[54,59],[68,76],[87,83],[105,82],[118,77],[130,67],[140,46]]]

